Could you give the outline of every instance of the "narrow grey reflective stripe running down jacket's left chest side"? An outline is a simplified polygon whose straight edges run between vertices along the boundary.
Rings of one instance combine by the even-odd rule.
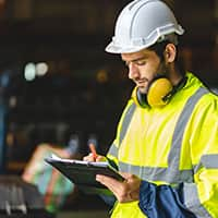
[[[125,133],[128,131],[128,128],[130,125],[130,122],[132,120],[132,117],[133,117],[133,113],[135,111],[135,108],[136,108],[136,105],[135,104],[132,104],[129,108],[128,108],[128,111],[125,112],[124,114],[124,119],[123,119],[123,122],[122,122],[122,128],[121,128],[121,131],[120,131],[120,140],[119,140],[119,145],[121,145],[124,136],[125,136]]]

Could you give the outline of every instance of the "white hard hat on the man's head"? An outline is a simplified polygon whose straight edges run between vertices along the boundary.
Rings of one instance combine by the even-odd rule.
[[[120,13],[112,41],[106,47],[111,53],[130,53],[148,48],[174,34],[182,35],[172,11],[160,0],[134,0]]]

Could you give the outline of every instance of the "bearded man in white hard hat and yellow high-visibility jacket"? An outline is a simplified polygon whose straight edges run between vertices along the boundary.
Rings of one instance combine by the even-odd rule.
[[[118,199],[111,217],[218,217],[218,98],[179,66],[183,32],[162,1],[135,0],[106,48],[135,82],[107,155],[125,180],[96,177]]]

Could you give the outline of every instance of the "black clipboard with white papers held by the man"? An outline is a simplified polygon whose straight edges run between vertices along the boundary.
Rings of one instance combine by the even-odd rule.
[[[96,174],[105,174],[119,181],[124,180],[107,161],[89,162],[75,159],[62,159],[55,155],[45,158],[45,161],[58,169],[71,182],[82,187],[107,189],[96,181]]]

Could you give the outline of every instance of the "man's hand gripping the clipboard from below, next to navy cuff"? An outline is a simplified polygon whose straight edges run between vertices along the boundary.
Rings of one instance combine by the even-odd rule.
[[[136,175],[126,172],[121,173],[121,175],[125,179],[123,182],[102,174],[97,174],[96,180],[106,185],[120,203],[138,199],[141,180]]]

